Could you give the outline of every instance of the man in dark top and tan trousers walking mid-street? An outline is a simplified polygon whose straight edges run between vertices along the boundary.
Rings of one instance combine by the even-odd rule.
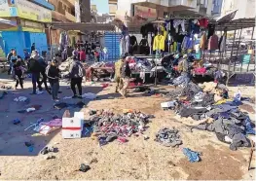
[[[127,96],[127,89],[128,89],[130,74],[131,74],[131,71],[130,71],[130,68],[128,66],[128,60],[125,60],[125,62],[121,66],[121,79],[122,79],[122,82],[123,82],[124,86],[119,91],[124,97]]]

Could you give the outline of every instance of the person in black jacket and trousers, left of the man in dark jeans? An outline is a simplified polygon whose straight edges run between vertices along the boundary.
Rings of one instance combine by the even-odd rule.
[[[33,84],[33,91],[31,94],[36,94],[36,84],[39,88],[39,90],[42,90],[41,84],[40,84],[40,72],[42,70],[42,67],[38,61],[38,54],[36,51],[33,51],[31,54],[31,57],[29,59],[29,67],[28,70],[32,74],[32,84]]]

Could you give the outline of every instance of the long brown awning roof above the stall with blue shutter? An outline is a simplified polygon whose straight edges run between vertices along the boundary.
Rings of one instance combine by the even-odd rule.
[[[115,25],[110,23],[84,23],[84,22],[52,22],[53,28],[69,30],[90,31],[114,31]]]

